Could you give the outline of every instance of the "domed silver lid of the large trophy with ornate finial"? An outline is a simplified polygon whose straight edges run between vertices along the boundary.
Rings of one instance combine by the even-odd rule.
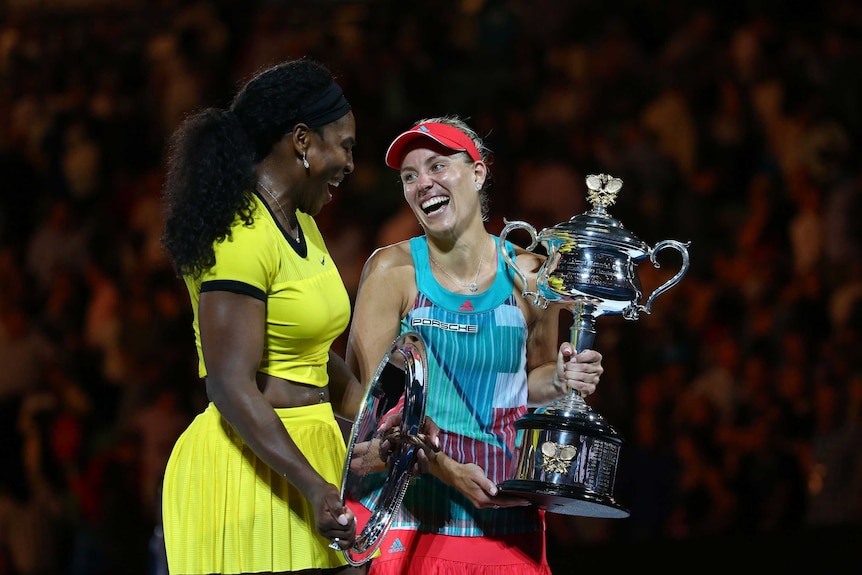
[[[586,177],[586,184],[589,189],[587,201],[592,204],[592,209],[543,230],[540,237],[546,239],[550,236],[563,241],[574,241],[581,247],[606,247],[625,251],[635,259],[646,257],[649,254],[649,246],[607,211],[607,208],[616,202],[623,181],[607,174],[593,174]]]

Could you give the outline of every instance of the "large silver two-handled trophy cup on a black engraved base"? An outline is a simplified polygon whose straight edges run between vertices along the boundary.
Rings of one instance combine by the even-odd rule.
[[[530,303],[546,308],[563,304],[574,322],[571,342],[576,353],[594,349],[596,318],[622,315],[637,320],[650,313],[653,301],[679,283],[688,271],[688,243],[664,240],[650,248],[608,213],[623,182],[606,174],[586,178],[592,209],[569,221],[536,233],[526,222],[506,222],[500,232],[500,254],[524,286]],[[526,230],[533,251],[539,242],[547,260],[539,269],[536,291],[505,249],[506,236]],[[637,266],[649,257],[673,249],[682,256],[680,270],[656,288],[641,305]],[[530,499],[548,512],[586,517],[622,518],[629,512],[613,498],[623,439],[577,391],[536,409],[515,422],[522,431],[517,475],[500,485],[503,493]]]

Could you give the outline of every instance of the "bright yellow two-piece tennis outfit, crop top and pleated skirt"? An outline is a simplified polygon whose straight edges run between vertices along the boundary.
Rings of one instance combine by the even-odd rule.
[[[350,300],[314,219],[297,212],[299,245],[254,196],[254,222],[237,220],[215,245],[216,263],[186,277],[199,373],[201,291],[228,290],[266,306],[259,371],[314,386],[328,382],[332,342],[347,327]],[[304,246],[302,245],[304,243]],[[309,463],[340,486],[346,446],[329,403],[276,409]],[[177,440],[165,471],[162,513],[171,575],[298,571],[346,565],[314,528],[306,498],[257,458],[212,403]]]

